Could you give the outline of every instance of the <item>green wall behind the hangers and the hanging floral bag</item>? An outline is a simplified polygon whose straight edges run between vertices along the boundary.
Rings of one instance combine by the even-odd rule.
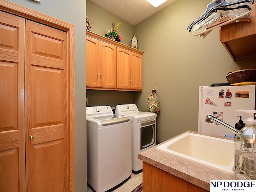
[[[186,130],[198,130],[198,87],[226,83],[230,71],[248,68],[256,59],[234,62],[219,40],[218,29],[205,39],[187,26],[211,0],[177,0],[134,26],[143,55],[143,92],[136,104],[146,110],[146,97],[156,86],[160,102],[157,139],[163,142]],[[234,125],[233,125],[234,126]]]

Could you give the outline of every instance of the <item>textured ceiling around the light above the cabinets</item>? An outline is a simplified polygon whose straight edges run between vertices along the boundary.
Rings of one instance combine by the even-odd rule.
[[[168,0],[157,8],[146,0],[89,0],[131,25],[136,25],[176,0]]]

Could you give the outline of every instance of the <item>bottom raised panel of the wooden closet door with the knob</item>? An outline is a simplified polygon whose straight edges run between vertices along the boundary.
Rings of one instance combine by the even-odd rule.
[[[36,137],[35,137],[36,138]],[[40,169],[36,168],[39,173],[32,171],[32,191],[45,191],[62,192],[64,188],[63,175],[64,151],[60,150],[64,148],[64,140],[53,140],[49,142],[40,142],[32,145],[32,167],[40,166]],[[50,180],[53,179],[53,180]],[[46,180],[48,180],[46,182]],[[28,191],[30,188],[28,188]]]

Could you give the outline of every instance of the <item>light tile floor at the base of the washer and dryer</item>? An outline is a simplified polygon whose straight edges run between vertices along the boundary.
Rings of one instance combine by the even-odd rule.
[[[120,185],[118,188],[115,188],[111,192],[131,192],[141,183],[142,183],[142,172],[138,174],[132,173],[132,176],[128,181]],[[90,186],[87,185],[87,192],[94,192],[94,190],[92,190],[92,188],[90,188]]]

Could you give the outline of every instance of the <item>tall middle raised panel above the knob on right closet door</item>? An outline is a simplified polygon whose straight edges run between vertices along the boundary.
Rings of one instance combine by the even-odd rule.
[[[64,124],[63,70],[31,67],[31,127]]]

